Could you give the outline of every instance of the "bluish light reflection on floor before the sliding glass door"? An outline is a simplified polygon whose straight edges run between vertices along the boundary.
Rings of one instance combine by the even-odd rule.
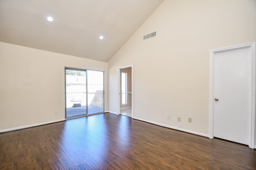
[[[104,143],[107,140],[105,127],[104,114],[67,120],[59,145],[75,161],[84,162],[90,158],[104,161],[108,149]]]

